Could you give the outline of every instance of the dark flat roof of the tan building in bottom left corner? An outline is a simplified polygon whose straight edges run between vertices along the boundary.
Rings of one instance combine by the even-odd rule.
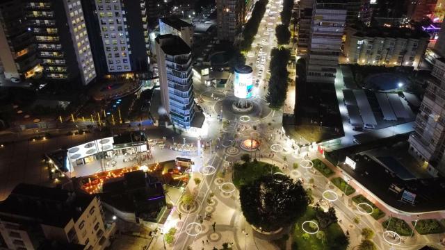
[[[0,203],[0,216],[27,217],[41,224],[64,227],[71,219],[79,219],[94,198],[90,194],[21,183]]]

